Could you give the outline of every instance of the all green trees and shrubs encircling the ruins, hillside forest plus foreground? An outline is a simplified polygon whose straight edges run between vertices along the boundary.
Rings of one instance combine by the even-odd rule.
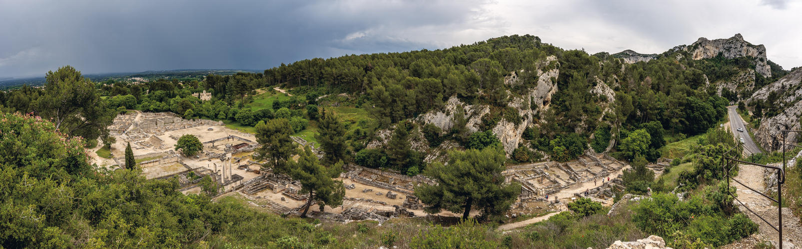
[[[514,35],[449,49],[314,58],[262,73],[158,78],[140,84],[93,82],[67,66],[49,72],[44,88],[0,91],[0,246],[345,248],[396,243],[439,248],[439,243],[452,241],[463,247],[586,248],[657,234],[674,247],[719,247],[756,231],[755,223],[726,199],[733,190],[719,185],[722,176],[715,162],[735,141],[714,128],[727,116],[727,105],[754,89],[719,96],[715,82],[755,65],[753,58],[693,60],[688,50],[680,46],[648,62],[625,64],[609,53],[590,55],[531,35]],[[772,78],[757,74],[755,89],[788,73],[769,64]],[[538,72],[553,69],[559,70],[557,77],[539,78]],[[518,83],[505,83],[513,73]],[[545,103],[548,108],[528,100],[539,81],[557,85]],[[602,86],[614,95],[592,93]],[[212,93],[210,101],[192,96],[203,91]],[[444,111],[452,97],[465,106],[491,109],[481,117],[477,132],[466,127],[464,106],[456,111],[451,130],[414,121],[423,113]],[[185,196],[176,192],[174,180],[144,180],[136,170],[106,172],[90,165],[83,151],[89,140],[113,141],[105,127],[116,113],[137,109],[225,121],[252,128],[259,136],[279,123],[296,136],[314,131],[306,139],[320,142],[326,155],[332,155],[324,158],[326,167],[343,160],[413,176],[444,168],[440,163],[448,161],[424,162],[425,153],[435,151],[413,150],[409,140],[414,134],[423,134],[431,148],[449,140],[467,149],[498,148],[500,140],[490,130],[502,120],[520,124],[525,118],[520,107],[509,105],[515,98],[525,99],[530,103],[525,109],[536,114],[520,148],[507,155],[509,160],[500,158],[500,164],[543,160],[546,155],[572,160],[589,148],[605,151],[613,140],[611,154],[630,160],[634,168],[625,174],[626,189],[617,196],[644,194],[650,188],[654,199],[611,216],[592,202],[580,202],[570,213],[512,235],[494,231],[497,219],[492,218],[448,229],[423,221],[314,227],[310,223],[319,221],[253,211],[233,198],[216,202],[205,195]],[[334,113],[356,114],[336,120],[330,116]],[[387,146],[367,148],[384,129],[391,132]],[[691,136],[697,138],[687,155],[674,160],[674,166],[693,164],[691,170],[679,174],[676,182],[654,180],[646,161],[665,157],[666,144]],[[686,200],[667,193],[678,185],[687,192]]]

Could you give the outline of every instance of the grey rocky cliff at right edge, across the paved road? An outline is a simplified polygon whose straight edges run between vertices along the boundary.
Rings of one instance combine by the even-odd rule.
[[[788,73],[780,80],[766,85],[763,88],[755,91],[752,96],[745,101],[747,104],[755,100],[766,101],[768,95],[772,92],[777,94],[777,100],[768,105],[779,105],[783,110],[782,113],[777,114],[775,117],[764,118],[760,121],[760,126],[754,132],[755,142],[760,147],[776,151],[781,149],[783,143],[783,136],[781,130],[791,129],[800,130],[800,113],[802,113],[802,101],[798,99],[802,96],[802,69],[796,69],[792,73]],[[786,142],[796,143],[796,134],[789,134]]]

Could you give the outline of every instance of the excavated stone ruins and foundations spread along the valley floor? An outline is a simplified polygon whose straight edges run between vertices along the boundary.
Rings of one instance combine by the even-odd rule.
[[[298,193],[301,186],[297,181],[264,171],[262,163],[253,160],[253,150],[258,146],[256,137],[226,128],[221,121],[184,120],[174,113],[137,112],[119,115],[110,129],[117,138],[111,145],[113,159],[95,158],[107,168],[125,168],[124,150],[130,142],[138,167],[146,178],[177,177],[181,192],[201,193],[199,182],[204,176],[210,176],[219,186],[218,193],[239,195],[254,206],[280,214],[298,213],[305,207],[307,196]],[[204,145],[203,151],[191,157],[175,152],[177,140],[185,134],[197,136]],[[306,140],[300,137],[293,139],[299,147],[306,145]],[[320,152],[318,156],[322,156]],[[661,165],[653,167],[656,172],[662,168]],[[585,196],[585,192],[602,204],[612,204],[613,188],[622,184],[620,176],[626,168],[628,164],[606,154],[584,155],[568,163],[508,166],[504,171],[506,180],[522,186],[520,198],[508,215],[565,209],[564,204],[577,196]],[[346,172],[339,179],[346,188],[342,206],[320,209],[313,204],[311,216],[345,221],[427,215],[423,204],[414,196],[418,184],[433,184],[426,177],[404,176],[354,164],[344,169]],[[472,215],[478,213],[472,211]],[[456,216],[448,211],[439,215]]]

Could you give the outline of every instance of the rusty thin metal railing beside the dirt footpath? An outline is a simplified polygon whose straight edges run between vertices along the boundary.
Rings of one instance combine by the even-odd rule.
[[[755,211],[752,211],[749,207],[747,207],[746,204],[743,204],[743,202],[741,202],[741,200],[738,200],[738,198],[736,198],[731,193],[729,193],[729,191],[727,191],[727,193],[730,196],[733,196],[733,199],[737,200],[738,203],[741,204],[741,206],[745,207],[752,214],[754,214],[758,218],[762,219],[765,223],[768,224],[769,227],[772,227],[774,230],[776,230],[780,234],[780,239],[779,239],[780,247],[779,248],[782,248],[783,247],[783,205],[782,205],[783,195],[782,195],[782,189],[783,189],[783,184],[785,183],[785,159],[787,158],[785,156],[785,149],[783,149],[783,167],[777,167],[777,166],[770,166],[770,165],[764,165],[764,164],[755,164],[755,163],[752,163],[752,162],[739,160],[739,156],[741,156],[741,154],[743,153],[743,149],[748,149],[748,148],[746,148],[743,144],[740,144],[740,143],[736,143],[736,144],[737,145],[735,145],[735,147],[730,148],[730,150],[728,150],[727,152],[724,152],[724,154],[722,156],[722,159],[721,159],[721,165],[722,165],[723,174],[724,174],[724,177],[727,179],[727,190],[730,189],[730,180],[732,180],[732,181],[735,181],[738,184],[741,184],[743,187],[748,188],[752,192],[758,193],[760,196],[764,196],[764,197],[768,198],[768,200],[772,200],[773,202],[776,202],[777,203],[777,215],[779,216],[778,217],[779,224],[775,227],[772,223],[768,222],[768,220],[766,220],[763,217],[761,217],[760,215],[758,215]],[[785,148],[785,146],[783,146],[783,148]],[[777,172],[777,199],[775,200],[774,198],[772,198],[772,196],[767,196],[763,192],[755,190],[754,188],[751,188],[751,187],[747,186],[746,184],[743,184],[739,180],[735,180],[735,178],[730,176],[730,172],[732,171],[732,169],[734,169],[738,165],[738,163],[740,163],[740,164],[751,164],[751,165],[755,165],[755,166],[759,166],[759,167],[763,167],[763,168],[775,169],[776,172]]]

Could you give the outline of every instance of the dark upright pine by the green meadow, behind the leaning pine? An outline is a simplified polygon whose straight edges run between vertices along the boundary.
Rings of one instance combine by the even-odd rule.
[[[320,135],[314,138],[320,142],[320,148],[326,155],[323,155],[323,162],[334,164],[338,160],[343,160],[346,156],[346,128],[337,121],[334,113],[323,111],[323,118],[318,124]]]

